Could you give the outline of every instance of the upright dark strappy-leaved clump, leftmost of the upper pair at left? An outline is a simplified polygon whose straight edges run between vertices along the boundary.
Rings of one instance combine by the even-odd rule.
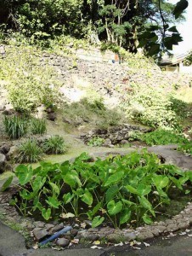
[[[28,121],[16,115],[10,117],[5,116],[3,119],[3,125],[5,132],[10,138],[18,139],[26,134]]]

